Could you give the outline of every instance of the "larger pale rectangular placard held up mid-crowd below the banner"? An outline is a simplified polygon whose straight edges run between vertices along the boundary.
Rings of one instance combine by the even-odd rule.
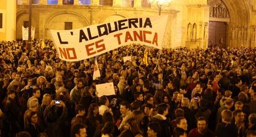
[[[96,92],[98,97],[115,95],[113,82],[96,85]]]

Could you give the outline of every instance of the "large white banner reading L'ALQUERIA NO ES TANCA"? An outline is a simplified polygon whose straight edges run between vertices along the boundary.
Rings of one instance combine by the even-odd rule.
[[[162,48],[167,15],[124,18],[115,22],[72,30],[50,30],[61,60],[79,61],[117,49],[141,44]]]

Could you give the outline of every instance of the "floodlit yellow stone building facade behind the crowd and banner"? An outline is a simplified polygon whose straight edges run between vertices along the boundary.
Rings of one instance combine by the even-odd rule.
[[[33,0],[32,26],[36,28],[36,39],[51,39],[50,29],[77,29],[126,17],[159,14],[157,0],[150,4],[148,0],[86,0],[88,5],[81,4],[85,0],[71,0],[72,4],[65,4],[67,0],[52,0],[56,4],[51,5],[49,1]],[[17,0],[17,39],[22,38],[22,25],[28,22],[28,7],[28,0]],[[172,0],[162,5],[161,15],[168,15],[163,43],[166,48],[206,48],[211,42],[212,22],[226,25],[221,37],[224,46],[256,47],[256,0]]]

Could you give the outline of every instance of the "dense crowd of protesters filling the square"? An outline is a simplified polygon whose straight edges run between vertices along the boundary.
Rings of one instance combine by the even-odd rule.
[[[148,51],[148,64],[143,62]],[[130,61],[123,57],[131,56]],[[95,59],[101,77],[93,80]],[[0,42],[1,136],[256,136],[256,49],[126,45],[59,60],[52,41]],[[98,97],[96,84],[115,95]]]

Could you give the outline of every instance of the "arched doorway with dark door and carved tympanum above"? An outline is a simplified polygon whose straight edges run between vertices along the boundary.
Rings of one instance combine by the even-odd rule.
[[[223,1],[208,1],[210,6],[208,45],[219,45],[226,47],[228,45],[228,22],[230,15],[228,8]]]

